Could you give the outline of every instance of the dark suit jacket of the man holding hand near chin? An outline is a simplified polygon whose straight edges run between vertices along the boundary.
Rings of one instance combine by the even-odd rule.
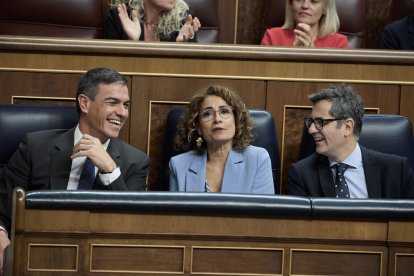
[[[65,190],[72,166],[75,128],[29,133],[10,158],[0,179],[0,225],[10,230],[13,189]],[[111,139],[107,152],[121,176],[104,186],[99,176],[93,189],[145,191],[149,157],[120,139]]]

